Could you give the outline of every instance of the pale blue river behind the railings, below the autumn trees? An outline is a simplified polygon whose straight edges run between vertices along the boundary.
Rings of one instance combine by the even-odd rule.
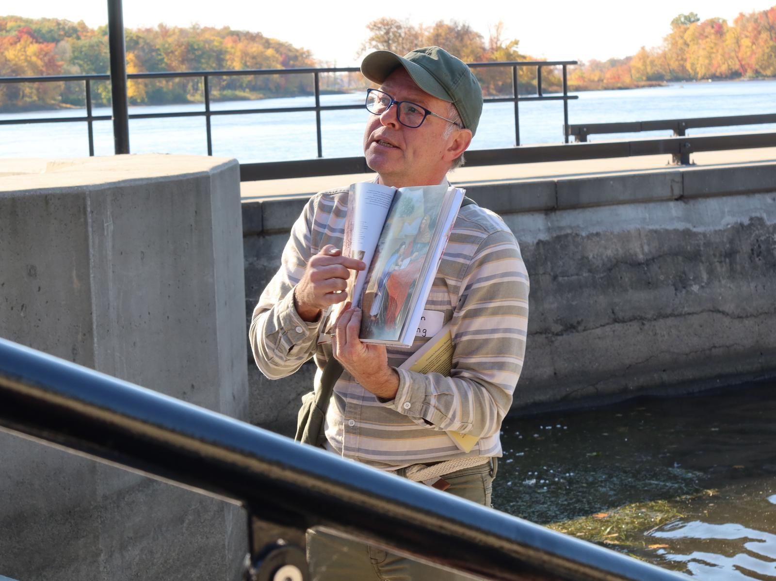
[[[724,81],[673,84],[665,87],[624,91],[576,93],[569,102],[569,123],[646,121],[684,117],[711,117],[776,112],[776,81]],[[323,95],[324,105],[363,102],[362,94]],[[254,109],[314,105],[312,97],[216,102],[213,109]],[[201,104],[131,107],[130,112],[203,110]],[[84,115],[82,109],[0,114],[0,119]],[[110,115],[110,109],[95,109],[95,115]],[[362,110],[323,112],[324,157],[362,155],[362,132],[369,112]],[[311,112],[266,113],[213,117],[213,154],[236,157],[242,163],[282,161],[316,157],[315,114]],[[95,123],[95,154],[113,154],[113,126]],[[738,126],[691,130],[700,133],[730,133],[776,130],[776,125]],[[521,144],[563,142],[561,102],[520,104]],[[46,123],[0,126],[0,157],[81,157],[88,155],[86,123]],[[594,140],[670,136],[670,131],[591,137]],[[514,116],[511,103],[485,106],[473,149],[512,147]],[[207,153],[204,117],[178,119],[133,119],[130,121],[133,153]]]

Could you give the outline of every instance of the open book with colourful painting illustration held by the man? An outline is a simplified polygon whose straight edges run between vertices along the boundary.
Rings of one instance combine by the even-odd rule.
[[[347,290],[362,310],[361,341],[412,344],[463,195],[448,185],[350,186],[342,254],[366,264]]]

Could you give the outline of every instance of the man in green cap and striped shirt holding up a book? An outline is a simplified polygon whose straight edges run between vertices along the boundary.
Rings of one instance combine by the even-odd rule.
[[[439,47],[399,57],[369,54],[362,73],[380,85],[368,92],[372,112],[364,154],[379,183],[435,185],[462,160],[482,111],[482,90],[466,64]],[[411,348],[359,341],[362,313],[345,310],[331,346],[317,345],[324,313],[345,300],[348,275],[365,265],[341,256],[348,188],[315,195],[293,226],[282,265],[253,313],[250,339],[269,378],[296,371],[314,356],[320,370],[334,356],[345,371],[327,410],[326,448],[400,476],[417,465],[468,465],[442,478],[449,493],[490,506],[501,420],[521,372],[528,318],[528,275],[518,244],[498,216],[462,207],[425,305],[435,330],[452,322],[450,377],[398,368]],[[369,313],[366,313],[369,316]],[[479,438],[467,454],[446,431]],[[397,555],[314,535],[310,562],[320,579],[449,579]],[[317,547],[317,548],[316,548]],[[359,559],[362,559],[359,564]]]

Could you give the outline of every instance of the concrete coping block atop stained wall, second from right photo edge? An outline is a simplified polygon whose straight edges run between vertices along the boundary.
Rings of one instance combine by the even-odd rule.
[[[558,209],[656,202],[681,196],[681,171],[558,180]]]

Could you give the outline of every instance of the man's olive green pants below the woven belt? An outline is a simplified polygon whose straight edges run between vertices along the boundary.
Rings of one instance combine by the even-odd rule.
[[[454,494],[490,507],[496,459],[445,476]],[[313,581],[471,581],[461,573],[437,569],[359,541],[307,531],[307,561]]]

